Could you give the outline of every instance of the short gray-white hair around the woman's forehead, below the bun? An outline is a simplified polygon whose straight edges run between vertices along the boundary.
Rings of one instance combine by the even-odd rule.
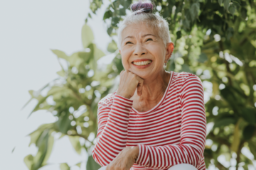
[[[163,40],[165,46],[168,42],[171,42],[171,38],[169,35],[169,24],[164,18],[162,18],[161,16],[156,16],[156,14],[154,13],[138,14],[136,11],[134,11],[132,14],[124,18],[124,21],[122,21],[121,25],[119,26],[117,33],[117,47],[119,48],[119,50],[121,50],[122,31],[124,30],[124,28],[133,23],[146,23],[146,26],[155,28],[159,37],[161,38],[161,40]]]

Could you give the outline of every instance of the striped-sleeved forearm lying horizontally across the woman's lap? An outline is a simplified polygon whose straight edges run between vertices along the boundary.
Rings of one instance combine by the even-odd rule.
[[[157,169],[169,169],[176,164],[191,164],[198,167],[203,157],[201,150],[191,145],[139,145],[139,155],[135,163]]]

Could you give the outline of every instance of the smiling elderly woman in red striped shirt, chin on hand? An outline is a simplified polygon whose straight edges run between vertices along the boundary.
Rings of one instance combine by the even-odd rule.
[[[174,44],[150,2],[132,5],[119,27],[125,71],[98,103],[95,161],[107,170],[206,169],[206,114],[201,80],[166,72]]]

